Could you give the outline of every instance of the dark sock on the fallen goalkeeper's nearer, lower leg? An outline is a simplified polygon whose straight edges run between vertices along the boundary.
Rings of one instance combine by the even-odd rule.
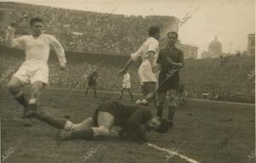
[[[71,132],[72,139],[92,139],[94,136],[92,128]]]

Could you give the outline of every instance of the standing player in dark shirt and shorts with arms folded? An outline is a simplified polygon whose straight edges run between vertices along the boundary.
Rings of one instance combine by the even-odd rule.
[[[157,59],[157,64],[160,65],[157,115],[162,117],[166,93],[169,92],[168,120],[173,121],[177,107],[175,98],[179,84],[179,69],[183,68],[183,52],[175,47],[177,32],[168,32],[167,41],[166,48],[160,50]]]

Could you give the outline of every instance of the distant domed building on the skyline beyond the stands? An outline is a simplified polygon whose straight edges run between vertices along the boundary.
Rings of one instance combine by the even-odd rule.
[[[208,51],[201,53],[201,58],[218,58],[223,55],[222,53],[222,44],[218,41],[218,37],[215,37],[208,46]]]

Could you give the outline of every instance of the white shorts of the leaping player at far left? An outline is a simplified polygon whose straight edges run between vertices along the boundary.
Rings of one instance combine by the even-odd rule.
[[[22,84],[33,83],[36,81],[44,82],[49,81],[49,68],[44,62],[38,60],[25,61],[20,69],[14,75]]]

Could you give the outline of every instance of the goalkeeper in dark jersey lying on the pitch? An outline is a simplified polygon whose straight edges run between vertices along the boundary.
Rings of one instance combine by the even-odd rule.
[[[33,117],[62,129],[58,134],[61,140],[92,139],[97,136],[111,135],[112,126],[120,126],[119,135],[130,134],[138,141],[146,141],[146,132],[168,132],[172,125],[159,117],[152,117],[150,110],[137,104],[121,104],[119,101],[107,101],[99,105],[94,115],[79,124],[58,118],[46,110],[35,110]]]

